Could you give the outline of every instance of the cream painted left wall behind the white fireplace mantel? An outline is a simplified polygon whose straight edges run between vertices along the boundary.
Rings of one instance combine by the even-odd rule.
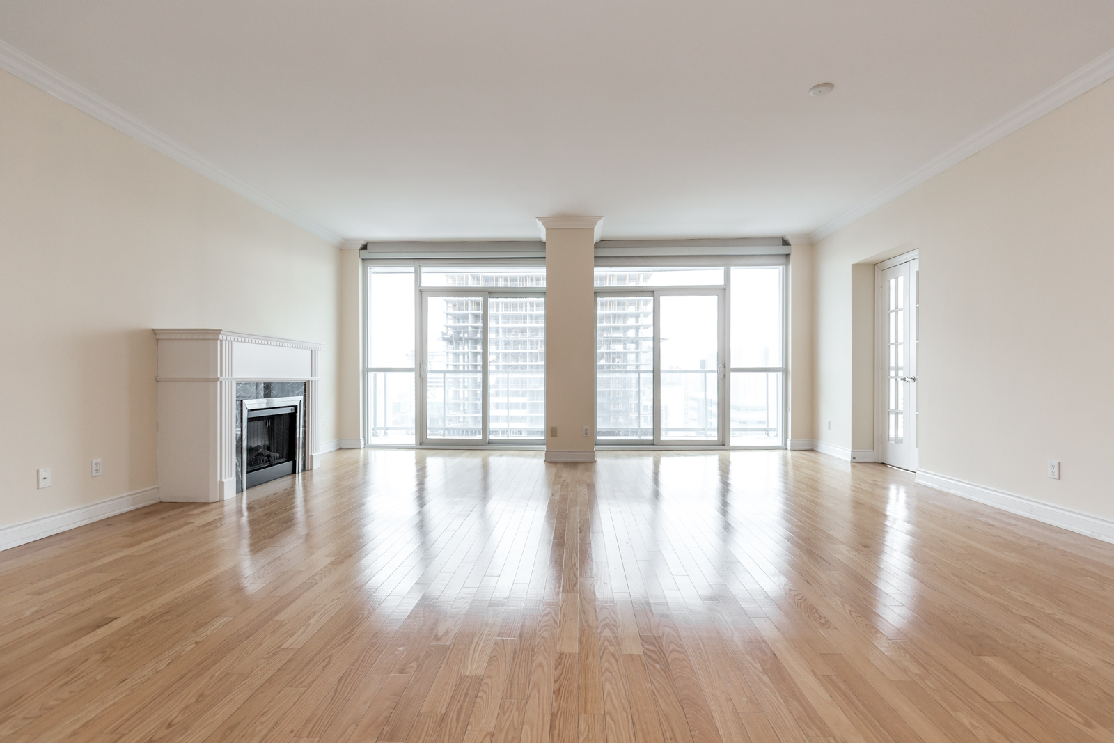
[[[338,438],[335,247],[2,71],[0,101],[0,526],[157,485],[152,327],[323,343]]]

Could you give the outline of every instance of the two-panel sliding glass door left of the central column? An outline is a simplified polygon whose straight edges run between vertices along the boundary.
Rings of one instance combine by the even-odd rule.
[[[476,446],[545,434],[545,295],[422,290],[418,440]]]

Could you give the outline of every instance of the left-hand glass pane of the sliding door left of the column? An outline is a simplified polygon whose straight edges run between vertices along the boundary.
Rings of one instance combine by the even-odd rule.
[[[482,437],[483,299],[427,297],[426,426],[430,439]]]

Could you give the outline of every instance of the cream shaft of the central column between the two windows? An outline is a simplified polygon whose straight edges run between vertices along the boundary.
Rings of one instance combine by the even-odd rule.
[[[546,229],[547,452],[595,449],[594,262],[592,227]],[[553,426],[556,438],[549,436]]]

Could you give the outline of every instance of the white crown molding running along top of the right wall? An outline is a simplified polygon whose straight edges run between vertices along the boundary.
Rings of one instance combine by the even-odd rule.
[[[841,229],[856,219],[870,214],[878,207],[911,190],[932,176],[944,173],[952,165],[989,147],[999,139],[1017,131],[1026,124],[1037,120],[1045,114],[1059,108],[1069,100],[1078,98],[1112,77],[1114,77],[1114,49],[1111,49],[1094,61],[1084,65],[1047,90],[1034,96],[1005,116],[991,121],[966,139],[940,153],[889,188],[818,227],[809,237],[813,243],[820,242],[837,229]]]

